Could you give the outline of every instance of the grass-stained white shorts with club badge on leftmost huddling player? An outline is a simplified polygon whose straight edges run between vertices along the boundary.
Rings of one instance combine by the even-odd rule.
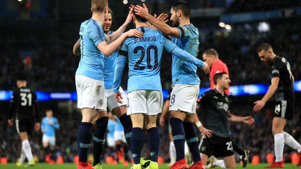
[[[75,84],[78,108],[93,109],[95,107],[95,109],[99,109],[99,111],[107,110],[107,107],[104,105],[104,81],[75,74]]]

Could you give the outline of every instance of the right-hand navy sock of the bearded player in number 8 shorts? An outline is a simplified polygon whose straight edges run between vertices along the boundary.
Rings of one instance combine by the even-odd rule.
[[[193,123],[183,122],[183,128],[185,131],[185,139],[189,147],[189,150],[191,152],[193,161],[194,162],[200,161],[201,156],[199,150],[199,141]]]

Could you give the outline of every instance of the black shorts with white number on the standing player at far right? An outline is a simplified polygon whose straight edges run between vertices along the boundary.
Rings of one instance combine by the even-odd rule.
[[[281,100],[276,102],[274,117],[281,117],[283,119],[291,120],[294,115],[294,101]]]

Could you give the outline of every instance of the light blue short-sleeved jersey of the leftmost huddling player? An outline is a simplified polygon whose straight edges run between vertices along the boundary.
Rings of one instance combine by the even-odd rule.
[[[81,58],[76,74],[103,81],[104,54],[97,48],[100,42],[105,41],[101,25],[90,18],[81,23],[79,34]]]

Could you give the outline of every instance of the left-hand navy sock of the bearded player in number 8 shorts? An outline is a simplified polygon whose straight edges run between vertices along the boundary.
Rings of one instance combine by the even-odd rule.
[[[169,119],[171,126],[172,139],[175,144],[175,152],[177,155],[176,161],[185,158],[185,132],[183,128],[183,121],[178,118],[171,117]]]

